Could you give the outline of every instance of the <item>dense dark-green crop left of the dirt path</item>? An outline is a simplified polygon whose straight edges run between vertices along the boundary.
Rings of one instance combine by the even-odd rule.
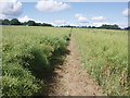
[[[32,96],[47,89],[44,81],[54,69],[53,60],[67,46],[68,30],[3,26],[3,96]]]

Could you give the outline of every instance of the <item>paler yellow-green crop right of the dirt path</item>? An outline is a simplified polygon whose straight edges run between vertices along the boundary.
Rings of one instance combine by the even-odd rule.
[[[128,33],[125,30],[79,29],[74,38],[84,69],[106,95],[128,94]]]

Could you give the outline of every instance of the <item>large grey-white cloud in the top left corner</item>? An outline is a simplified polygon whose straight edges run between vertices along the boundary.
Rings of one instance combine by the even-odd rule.
[[[22,3],[16,0],[0,1],[0,19],[14,19],[23,12]]]

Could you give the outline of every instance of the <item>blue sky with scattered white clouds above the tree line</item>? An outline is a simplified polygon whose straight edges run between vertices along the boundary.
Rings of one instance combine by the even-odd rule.
[[[38,23],[51,23],[54,26],[101,26],[117,24],[128,26],[127,0],[4,0],[0,5],[0,19],[29,20]],[[110,0],[109,0],[110,1]],[[115,1],[115,2],[114,2]]]

